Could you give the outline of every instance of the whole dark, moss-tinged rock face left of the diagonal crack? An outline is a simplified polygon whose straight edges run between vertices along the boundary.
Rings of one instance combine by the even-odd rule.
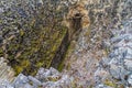
[[[0,57],[8,59],[16,74],[34,75],[57,58],[62,41],[68,37],[58,4],[52,0],[0,1]]]

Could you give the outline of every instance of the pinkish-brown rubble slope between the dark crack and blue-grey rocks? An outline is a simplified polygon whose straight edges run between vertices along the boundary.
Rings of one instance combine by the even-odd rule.
[[[101,88],[101,86],[106,88],[107,86],[105,85],[112,87],[117,86],[114,79],[113,82],[111,80],[112,78],[109,80],[110,73],[103,70],[101,66],[105,63],[109,63],[107,57],[112,47],[110,38],[116,37],[117,34],[114,34],[114,32],[121,31],[122,26],[127,28],[124,25],[124,22],[127,21],[124,20],[129,20],[132,16],[132,1],[130,0],[98,1],[99,3],[94,3],[92,0],[90,3],[86,3],[87,9],[89,9],[89,18],[91,22],[89,28],[90,33],[88,29],[85,29],[80,33],[79,40],[76,42],[76,47],[74,52],[72,53],[72,55],[68,56],[65,63],[65,68],[68,70],[67,73],[74,76],[76,78],[76,82],[78,82],[78,85],[81,85],[84,88],[88,88],[90,87],[90,85],[94,87],[95,84],[96,86],[98,85],[97,88]],[[122,55],[119,55],[119,58],[120,56]],[[103,62],[100,62],[101,59],[103,59]],[[119,61],[117,62],[119,63]],[[131,63],[128,62],[128,64],[130,67]],[[105,66],[107,67],[107,65]],[[123,67],[118,68],[117,65],[113,65],[111,68],[114,68],[118,72],[114,73],[113,70],[111,70],[114,75],[118,76],[120,70],[122,72],[122,74],[123,72],[125,72],[123,70]],[[103,77],[102,80],[105,85],[101,85],[101,82],[99,81],[101,80],[101,77],[95,77],[95,75],[97,74]],[[118,85],[119,88],[121,84]]]

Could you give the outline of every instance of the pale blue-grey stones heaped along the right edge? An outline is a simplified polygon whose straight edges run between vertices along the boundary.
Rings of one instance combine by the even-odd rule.
[[[95,79],[97,88],[109,78],[118,80],[117,85],[132,86],[132,18],[122,22],[122,30],[114,31],[111,38],[111,53],[108,58],[102,58]],[[106,88],[106,87],[105,87]]]

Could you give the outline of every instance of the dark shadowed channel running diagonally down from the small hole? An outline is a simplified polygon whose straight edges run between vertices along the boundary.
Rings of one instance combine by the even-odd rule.
[[[72,22],[72,28],[73,31],[69,32],[69,30],[67,30],[62,44],[59,45],[51,66],[54,68],[59,68],[59,65],[62,64],[62,62],[65,59],[66,53],[68,51],[68,46],[70,45],[70,42],[73,40],[75,40],[78,35],[78,33],[80,33],[81,31],[81,15],[79,13],[75,14],[74,18],[70,19]]]

